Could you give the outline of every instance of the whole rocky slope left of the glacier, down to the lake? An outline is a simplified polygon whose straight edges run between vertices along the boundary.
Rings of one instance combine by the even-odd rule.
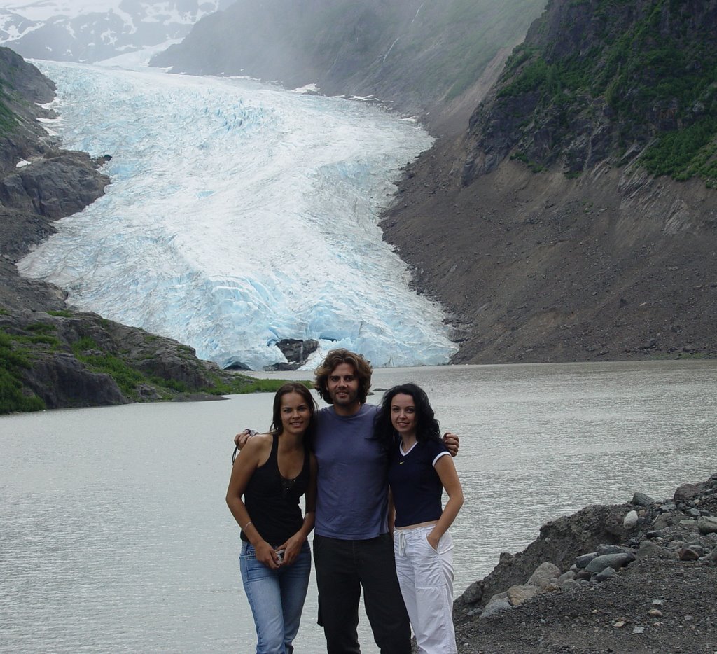
[[[80,313],[15,262],[54,233],[53,222],[104,192],[104,161],[65,151],[37,122],[54,85],[0,48],[0,414],[191,399],[261,384],[200,361],[172,341]]]

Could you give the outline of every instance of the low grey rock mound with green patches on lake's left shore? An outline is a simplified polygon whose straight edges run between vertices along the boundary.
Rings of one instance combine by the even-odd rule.
[[[17,376],[48,409],[170,399],[220,376],[189,346],[95,313],[23,308],[0,313],[0,331],[29,358]]]

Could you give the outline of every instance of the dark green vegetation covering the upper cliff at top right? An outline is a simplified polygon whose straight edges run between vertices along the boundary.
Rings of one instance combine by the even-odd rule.
[[[498,100],[538,95],[535,115],[569,120],[602,100],[623,148],[645,143],[655,176],[698,176],[717,185],[717,37],[713,22],[676,0],[574,0],[574,42],[516,48]],[[632,18],[632,14],[635,18]],[[577,16],[577,18],[576,18]],[[544,27],[544,26],[543,26]],[[583,27],[583,26],[581,26]],[[544,34],[544,30],[543,30]],[[566,36],[566,39],[568,37]]]

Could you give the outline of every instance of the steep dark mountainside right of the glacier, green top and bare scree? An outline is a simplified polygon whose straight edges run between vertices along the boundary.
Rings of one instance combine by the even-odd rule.
[[[717,4],[554,0],[384,221],[455,362],[715,356]]]

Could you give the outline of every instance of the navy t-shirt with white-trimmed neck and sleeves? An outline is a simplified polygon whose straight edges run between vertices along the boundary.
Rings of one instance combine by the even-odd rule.
[[[445,445],[436,440],[416,442],[405,454],[400,441],[391,448],[389,485],[394,496],[397,527],[441,517],[443,485],[433,465],[446,455],[450,456]]]

